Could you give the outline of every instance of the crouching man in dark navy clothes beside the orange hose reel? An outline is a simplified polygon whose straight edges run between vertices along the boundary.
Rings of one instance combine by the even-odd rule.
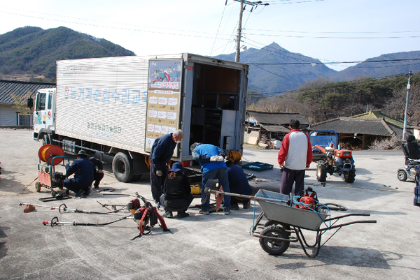
[[[66,165],[66,177],[74,173],[73,178],[65,179],[64,188],[76,193],[76,196],[87,196],[94,179],[94,164],[87,159],[86,151],[81,149],[77,159],[71,165]]]

